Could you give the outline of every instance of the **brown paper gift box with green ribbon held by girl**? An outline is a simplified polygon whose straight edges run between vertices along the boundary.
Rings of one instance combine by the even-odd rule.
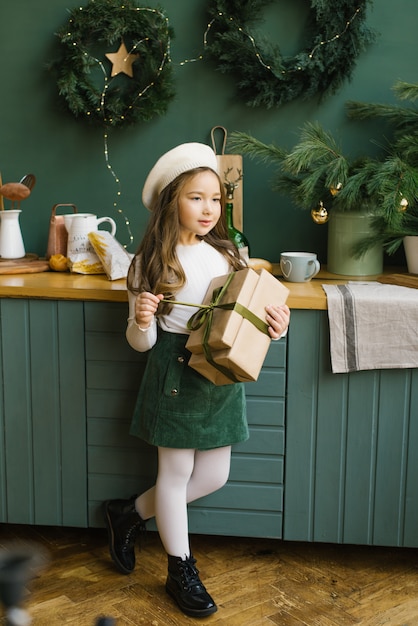
[[[201,326],[186,343],[190,367],[216,385],[257,380],[271,341],[265,307],[284,304],[288,294],[264,269],[246,268],[213,279],[197,314]],[[213,308],[204,308],[211,303]],[[196,323],[195,314],[191,324]]]

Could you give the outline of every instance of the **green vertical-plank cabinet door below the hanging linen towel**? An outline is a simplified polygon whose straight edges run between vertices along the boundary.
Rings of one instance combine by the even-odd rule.
[[[284,538],[418,546],[418,370],[332,374],[328,316],[293,311]]]

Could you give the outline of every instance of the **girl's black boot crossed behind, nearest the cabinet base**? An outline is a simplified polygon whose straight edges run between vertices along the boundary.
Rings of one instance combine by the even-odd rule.
[[[103,502],[110,556],[122,574],[135,568],[135,541],[138,531],[145,531],[145,522],[135,510],[136,496],[129,500]]]

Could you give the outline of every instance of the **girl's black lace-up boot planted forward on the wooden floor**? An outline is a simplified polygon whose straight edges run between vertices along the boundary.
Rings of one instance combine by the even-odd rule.
[[[191,555],[185,561],[169,555],[165,590],[186,615],[206,617],[218,608],[200,580],[195,563],[196,559]]]

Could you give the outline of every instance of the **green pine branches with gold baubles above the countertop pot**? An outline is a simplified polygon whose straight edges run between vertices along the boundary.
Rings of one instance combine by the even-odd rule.
[[[401,99],[418,99],[418,84],[398,83],[394,90]],[[392,124],[392,137],[380,146],[384,151],[379,158],[348,159],[318,122],[302,127],[291,150],[245,133],[234,133],[232,145],[276,166],[273,190],[289,195],[303,209],[322,201],[328,211],[369,210],[374,232],[358,244],[356,255],[379,243],[393,254],[404,236],[418,235],[418,108],[348,102],[347,111],[351,118],[380,118]]]

